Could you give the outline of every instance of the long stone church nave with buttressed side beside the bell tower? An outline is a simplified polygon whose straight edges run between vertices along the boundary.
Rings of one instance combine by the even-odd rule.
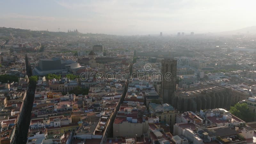
[[[212,108],[229,109],[234,98],[230,88],[214,84],[202,84],[198,87],[176,91],[175,97],[173,97],[173,107],[180,112]]]

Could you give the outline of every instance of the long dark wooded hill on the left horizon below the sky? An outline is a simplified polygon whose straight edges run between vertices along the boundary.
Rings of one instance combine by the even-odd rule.
[[[1,36],[12,36],[29,38],[29,37],[69,37],[69,36],[107,36],[106,34],[83,34],[77,32],[51,32],[51,31],[34,31],[29,29],[20,29],[20,28],[5,28],[0,27],[0,37]]]

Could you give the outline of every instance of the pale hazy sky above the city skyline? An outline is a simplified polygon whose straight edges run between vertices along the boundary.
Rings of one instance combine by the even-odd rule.
[[[0,27],[117,35],[256,25],[255,0],[1,0]]]

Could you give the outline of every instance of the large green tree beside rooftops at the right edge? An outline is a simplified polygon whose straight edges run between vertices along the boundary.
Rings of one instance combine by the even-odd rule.
[[[251,122],[255,117],[255,113],[249,110],[246,103],[236,103],[233,107],[230,107],[229,112],[241,118],[245,122]]]

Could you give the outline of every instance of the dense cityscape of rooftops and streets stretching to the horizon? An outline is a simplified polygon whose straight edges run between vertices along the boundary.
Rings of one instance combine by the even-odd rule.
[[[249,32],[0,35],[1,144],[256,142]]]

